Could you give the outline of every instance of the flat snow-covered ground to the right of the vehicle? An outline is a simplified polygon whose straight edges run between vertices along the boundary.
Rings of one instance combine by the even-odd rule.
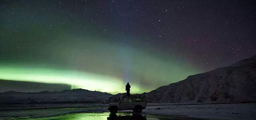
[[[256,104],[198,104],[148,106],[145,114],[188,116],[224,120],[256,120]]]

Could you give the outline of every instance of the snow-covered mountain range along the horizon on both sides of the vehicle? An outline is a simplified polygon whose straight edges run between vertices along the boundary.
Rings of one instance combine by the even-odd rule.
[[[84,89],[3,92],[0,104],[107,103],[120,96]],[[144,93],[147,102],[256,102],[256,56]],[[110,98],[110,99],[109,99]]]

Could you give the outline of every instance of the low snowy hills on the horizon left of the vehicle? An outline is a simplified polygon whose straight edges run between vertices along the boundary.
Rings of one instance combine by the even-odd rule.
[[[42,92],[3,92],[0,104],[50,104],[50,103],[106,103],[113,96],[106,92],[84,89],[42,91]]]

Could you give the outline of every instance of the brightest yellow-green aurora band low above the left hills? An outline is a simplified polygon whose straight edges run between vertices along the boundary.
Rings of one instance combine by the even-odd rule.
[[[0,74],[0,79],[3,80],[68,84],[71,85],[72,88],[83,88],[112,94],[125,92],[124,86],[126,84],[122,82],[122,80],[111,76],[49,68],[1,65]],[[132,86],[132,93],[139,93],[140,91],[141,90],[136,87],[136,85]]]

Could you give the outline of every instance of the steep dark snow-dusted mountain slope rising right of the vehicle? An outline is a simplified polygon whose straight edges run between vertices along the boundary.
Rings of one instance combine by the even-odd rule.
[[[147,102],[256,102],[256,56],[145,95]]]

